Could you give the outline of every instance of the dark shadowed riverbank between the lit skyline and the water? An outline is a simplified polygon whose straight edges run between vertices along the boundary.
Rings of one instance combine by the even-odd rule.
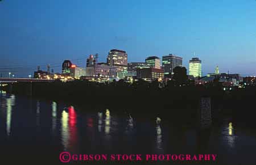
[[[65,101],[79,105],[86,111],[111,109],[120,114],[129,113],[143,117],[156,116],[176,124],[196,125],[199,101],[203,97],[211,99],[213,123],[223,117],[230,117],[241,122],[253,120],[256,87],[233,87],[224,91],[221,86],[167,86],[159,88],[154,84],[128,84],[112,82],[108,84],[74,82],[19,82],[14,83],[11,91],[15,95],[32,98]]]

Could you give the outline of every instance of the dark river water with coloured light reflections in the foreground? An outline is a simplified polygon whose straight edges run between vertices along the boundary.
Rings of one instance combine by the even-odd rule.
[[[210,163],[256,164],[256,130],[231,119],[214,125],[208,133],[199,133],[163,120],[158,123],[146,117],[137,120],[133,114],[117,115],[111,109],[89,111],[85,107],[1,91],[2,162],[15,162],[18,158],[26,163],[43,160],[60,163],[59,154],[68,151],[73,154],[217,154],[217,161]]]

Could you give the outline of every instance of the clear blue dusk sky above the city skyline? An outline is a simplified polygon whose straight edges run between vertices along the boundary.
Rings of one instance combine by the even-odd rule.
[[[203,75],[256,74],[255,0],[2,0],[0,73],[27,77],[40,65],[60,72],[89,54],[105,62],[110,49],[129,62],[167,55],[199,57]]]

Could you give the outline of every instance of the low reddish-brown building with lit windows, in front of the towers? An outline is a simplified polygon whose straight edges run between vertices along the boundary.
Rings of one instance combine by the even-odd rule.
[[[155,81],[156,79],[162,80],[164,78],[164,73],[162,69],[156,68],[142,68],[137,69],[137,78],[144,79],[145,81]]]

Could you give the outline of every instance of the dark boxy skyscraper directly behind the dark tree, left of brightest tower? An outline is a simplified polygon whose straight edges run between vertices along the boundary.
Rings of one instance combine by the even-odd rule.
[[[172,74],[176,66],[182,66],[182,57],[174,56],[173,54],[163,56],[162,65],[164,74]]]

